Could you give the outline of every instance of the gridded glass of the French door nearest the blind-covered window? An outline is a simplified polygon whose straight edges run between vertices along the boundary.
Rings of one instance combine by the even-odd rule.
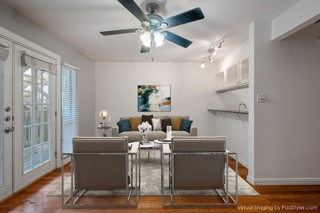
[[[23,172],[51,160],[50,88],[51,75],[23,67]]]

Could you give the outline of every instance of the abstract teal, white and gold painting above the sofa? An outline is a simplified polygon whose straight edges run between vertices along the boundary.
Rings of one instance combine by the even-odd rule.
[[[170,85],[138,85],[138,112],[170,111]]]

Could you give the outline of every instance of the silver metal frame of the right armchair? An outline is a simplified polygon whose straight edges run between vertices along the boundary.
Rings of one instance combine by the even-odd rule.
[[[204,139],[205,140],[205,139]],[[175,155],[224,155],[225,159],[225,166],[224,171],[225,177],[224,177],[224,188],[220,189],[222,190],[225,195],[222,195],[218,189],[214,189],[217,195],[221,198],[221,203],[214,203],[214,204],[175,204],[174,203],[174,156]],[[232,157],[235,158],[235,195],[231,196],[229,194],[228,189],[228,156],[232,155]],[[171,183],[169,181],[169,186],[164,186],[164,156],[169,156],[169,173],[171,172]],[[209,163],[209,162],[208,162]],[[171,167],[170,167],[171,166]],[[163,144],[161,147],[161,191],[162,191],[162,207],[187,207],[187,206],[197,206],[197,207],[210,207],[210,206],[220,206],[220,205],[237,205],[238,202],[238,192],[237,192],[237,152],[171,152],[169,144]],[[169,175],[169,174],[168,174]],[[165,204],[164,198],[166,197],[164,195],[164,190],[169,190],[169,196],[171,204]],[[229,200],[231,202],[229,202]]]

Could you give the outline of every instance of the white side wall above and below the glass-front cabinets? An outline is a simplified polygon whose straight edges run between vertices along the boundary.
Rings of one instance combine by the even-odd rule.
[[[231,52],[216,62],[216,72],[236,64],[238,60],[248,57],[248,40],[245,40]],[[215,82],[215,81],[214,81]],[[211,109],[238,110],[239,104],[244,103],[246,109],[241,105],[240,110],[249,111],[248,88],[228,92],[216,92],[216,96],[210,102]],[[240,116],[231,113],[216,113],[209,115],[212,119],[215,135],[225,135],[227,138],[226,147],[230,151],[238,152],[239,162],[248,167],[248,116]],[[249,112],[250,116],[250,112]]]

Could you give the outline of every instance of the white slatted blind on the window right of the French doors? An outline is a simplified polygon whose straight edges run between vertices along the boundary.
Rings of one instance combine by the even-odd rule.
[[[61,63],[61,152],[72,152],[72,137],[79,132],[79,69]]]

